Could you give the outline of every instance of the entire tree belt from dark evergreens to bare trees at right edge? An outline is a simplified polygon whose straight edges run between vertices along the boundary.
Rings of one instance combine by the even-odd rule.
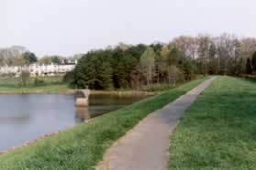
[[[89,51],[65,80],[77,88],[139,89],[159,83],[176,84],[196,75],[256,74],[256,38],[175,37],[169,43],[119,44]]]

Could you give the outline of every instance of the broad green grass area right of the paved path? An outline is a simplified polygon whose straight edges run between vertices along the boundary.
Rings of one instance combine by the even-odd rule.
[[[218,77],[172,136],[170,169],[256,169],[256,81]]]

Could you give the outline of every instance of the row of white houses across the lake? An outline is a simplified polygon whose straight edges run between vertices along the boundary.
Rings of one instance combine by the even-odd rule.
[[[29,66],[0,66],[1,75],[19,76],[22,70],[28,70],[32,77],[36,76],[57,76],[64,75],[68,71],[72,71],[77,64],[77,60],[62,60],[61,64],[51,63],[50,65],[34,63]]]

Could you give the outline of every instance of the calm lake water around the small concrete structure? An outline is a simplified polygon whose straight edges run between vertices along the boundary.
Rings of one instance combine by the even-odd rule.
[[[0,151],[117,110],[141,98],[90,96],[88,109],[76,108],[73,95],[0,95]]]

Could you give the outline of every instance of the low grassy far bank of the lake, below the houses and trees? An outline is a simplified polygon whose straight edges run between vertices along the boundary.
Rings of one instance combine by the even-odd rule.
[[[61,76],[56,77],[30,77],[27,86],[21,87],[18,78],[0,78],[0,94],[73,94],[74,90],[68,83],[63,82]],[[180,84],[178,84],[179,86]],[[170,90],[173,85],[153,84],[143,87],[141,90],[121,89],[121,90],[91,90],[93,95],[114,95],[120,97],[129,96],[152,96],[161,93],[163,90]]]

